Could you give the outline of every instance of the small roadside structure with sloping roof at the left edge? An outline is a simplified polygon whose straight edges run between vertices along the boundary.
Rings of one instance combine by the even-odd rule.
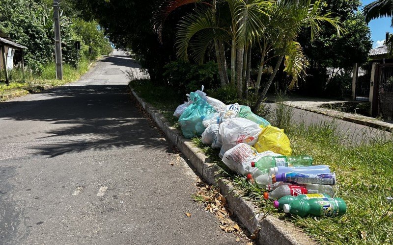
[[[25,66],[23,60],[23,49],[26,49],[25,46],[20,45],[18,43],[13,42],[10,37],[0,30],[0,71],[3,70],[5,73],[5,81],[9,84],[8,81],[8,70],[12,69],[14,66],[14,54],[15,50],[21,51],[22,58],[22,71],[25,73]]]

